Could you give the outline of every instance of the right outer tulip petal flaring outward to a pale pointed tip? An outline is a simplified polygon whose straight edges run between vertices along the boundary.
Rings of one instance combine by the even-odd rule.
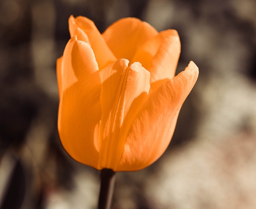
[[[156,161],[170,143],[180,108],[196,83],[198,68],[190,62],[185,71],[154,91],[128,131],[116,171],[134,171]]]

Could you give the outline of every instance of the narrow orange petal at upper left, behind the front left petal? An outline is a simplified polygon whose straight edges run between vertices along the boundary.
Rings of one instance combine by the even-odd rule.
[[[100,70],[116,60],[92,20],[82,16],[70,16],[68,22],[71,37],[77,35],[78,40],[91,45]]]

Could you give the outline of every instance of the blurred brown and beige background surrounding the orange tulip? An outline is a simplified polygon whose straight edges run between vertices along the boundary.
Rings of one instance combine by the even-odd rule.
[[[1,0],[0,209],[94,209],[100,172],[57,132],[56,59],[68,18],[132,16],[178,30],[177,73],[200,69],[164,155],[117,174],[113,209],[256,208],[255,0]]]

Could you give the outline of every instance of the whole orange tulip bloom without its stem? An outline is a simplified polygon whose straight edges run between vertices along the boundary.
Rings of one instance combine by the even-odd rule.
[[[100,34],[91,20],[70,16],[69,30],[57,60],[64,149],[98,170],[149,166],[170,143],[198,67],[191,61],[174,77],[178,33],[158,33],[136,18],[118,20]]]

